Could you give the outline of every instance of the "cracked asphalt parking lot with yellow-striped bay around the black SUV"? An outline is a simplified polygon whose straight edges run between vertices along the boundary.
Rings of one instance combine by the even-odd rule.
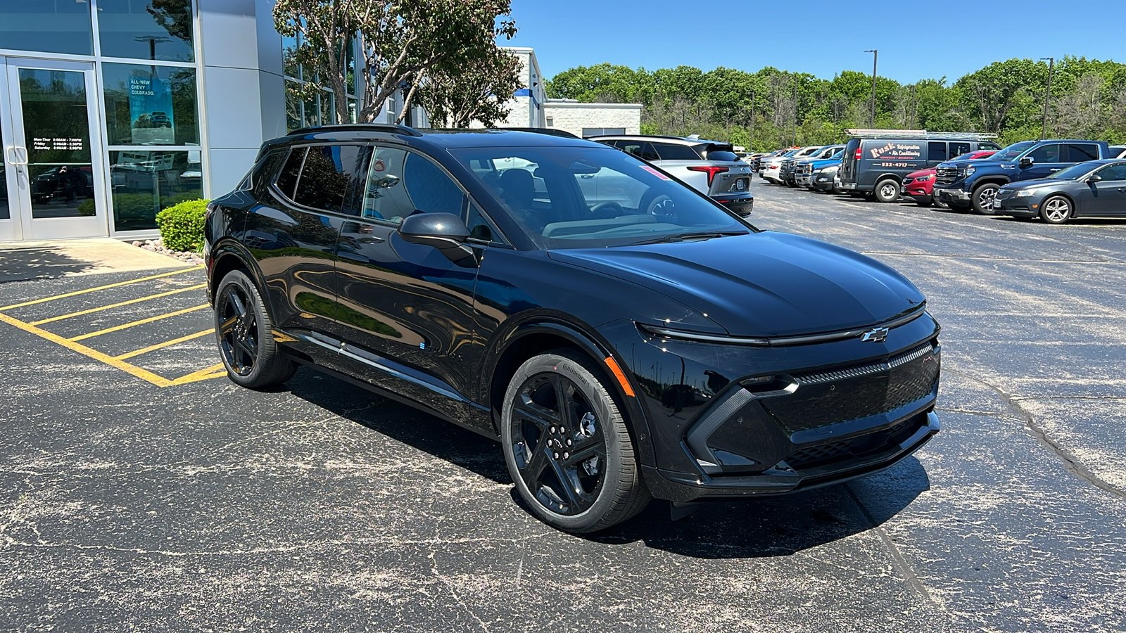
[[[928,295],[915,456],[573,536],[470,431],[305,368],[235,387],[198,268],[5,283],[0,627],[1126,630],[1126,222],[752,190]]]

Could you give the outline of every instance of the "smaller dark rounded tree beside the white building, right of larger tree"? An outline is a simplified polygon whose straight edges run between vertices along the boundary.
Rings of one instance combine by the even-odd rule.
[[[506,105],[522,88],[520,60],[493,47],[470,63],[446,63],[426,74],[418,100],[441,127],[468,127],[477,121],[492,127],[508,117]]]

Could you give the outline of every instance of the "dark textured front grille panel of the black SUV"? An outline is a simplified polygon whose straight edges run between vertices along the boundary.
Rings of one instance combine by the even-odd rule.
[[[929,396],[938,384],[929,342],[883,362],[795,374],[797,390],[762,405],[790,433],[886,413]]]

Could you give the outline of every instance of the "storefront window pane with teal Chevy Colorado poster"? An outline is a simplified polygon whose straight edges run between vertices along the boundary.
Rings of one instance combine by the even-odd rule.
[[[110,145],[198,145],[196,71],[102,64]]]

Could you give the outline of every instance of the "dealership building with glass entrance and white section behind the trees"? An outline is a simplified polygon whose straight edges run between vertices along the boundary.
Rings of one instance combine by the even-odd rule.
[[[306,78],[272,5],[0,0],[0,241],[153,237],[161,208],[229,191],[263,140],[330,122],[329,91],[286,90]],[[534,52],[512,52],[527,88],[508,126],[637,131],[640,106],[547,99]],[[396,95],[379,119],[401,109]]]

